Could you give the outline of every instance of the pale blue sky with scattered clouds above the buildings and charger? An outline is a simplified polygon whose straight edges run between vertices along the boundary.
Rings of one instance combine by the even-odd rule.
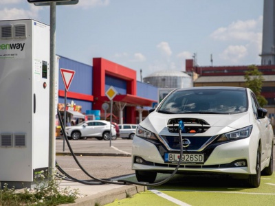
[[[1,0],[0,20],[10,19],[50,25],[50,6]],[[194,56],[199,66],[260,65],[262,32],[263,0],[56,5],[56,54],[87,65],[92,58],[105,58],[136,70],[139,81],[155,71],[185,71],[185,60]]]

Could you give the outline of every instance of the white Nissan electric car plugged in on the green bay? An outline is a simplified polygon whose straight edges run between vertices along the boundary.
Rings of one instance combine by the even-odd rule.
[[[132,169],[138,181],[157,173],[230,174],[259,187],[273,172],[273,130],[267,110],[241,87],[175,89],[137,126]],[[179,138],[179,121],[181,137]]]

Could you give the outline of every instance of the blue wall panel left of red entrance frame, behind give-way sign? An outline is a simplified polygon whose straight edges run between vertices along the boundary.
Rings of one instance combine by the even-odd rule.
[[[74,78],[70,84],[69,91],[92,95],[93,68],[81,62],[77,62],[75,60],[71,60],[63,56],[60,56],[60,57],[61,58],[59,60],[59,73],[58,73],[59,90],[65,90],[60,69],[61,68],[70,69],[70,70],[74,70],[75,73],[74,73]]]

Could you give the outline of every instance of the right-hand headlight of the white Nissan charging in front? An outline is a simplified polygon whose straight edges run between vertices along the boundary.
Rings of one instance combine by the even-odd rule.
[[[230,141],[236,139],[244,139],[250,136],[253,126],[247,126],[239,130],[234,130],[230,133],[219,135],[217,141]]]

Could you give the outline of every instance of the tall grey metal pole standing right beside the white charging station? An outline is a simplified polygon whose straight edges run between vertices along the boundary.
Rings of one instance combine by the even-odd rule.
[[[50,4],[50,114],[49,114],[49,181],[54,179],[56,138],[55,138],[55,93],[56,93],[56,3]]]

